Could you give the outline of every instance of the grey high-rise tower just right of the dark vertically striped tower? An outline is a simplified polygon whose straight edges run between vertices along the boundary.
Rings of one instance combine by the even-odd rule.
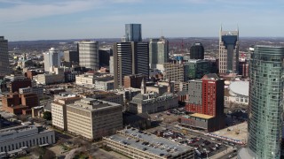
[[[149,62],[151,68],[156,64],[167,63],[169,58],[169,42],[162,36],[160,39],[150,39]]]

